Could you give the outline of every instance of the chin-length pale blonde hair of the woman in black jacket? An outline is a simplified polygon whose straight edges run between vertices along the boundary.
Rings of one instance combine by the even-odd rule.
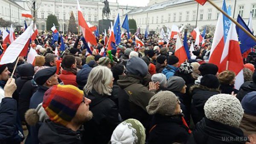
[[[109,84],[112,80],[113,74],[108,67],[96,66],[88,76],[87,84],[84,86],[84,92],[88,95],[94,89],[100,95],[111,95],[112,87]]]

